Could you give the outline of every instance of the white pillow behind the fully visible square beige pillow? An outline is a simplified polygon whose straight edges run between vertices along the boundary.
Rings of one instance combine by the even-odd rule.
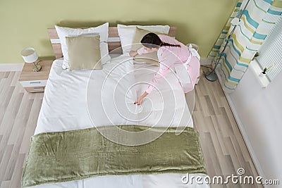
[[[100,50],[101,50],[101,58],[102,64],[108,62],[111,57],[109,56],[109,49],[108,49],[108,37],[109,37],[109,23],[104,23],[103,25],[99,25],[97,27],[90,27],[87,29],[74,29],[69,27],[59,27],[55,25],[56,32],[58,33],[60,42],[61,42],[61,49],[63,52],[63,69],[69,68],[68,64],[68,47],[66,45],[66,37],[78,37],[80,35],[100,35]]]

